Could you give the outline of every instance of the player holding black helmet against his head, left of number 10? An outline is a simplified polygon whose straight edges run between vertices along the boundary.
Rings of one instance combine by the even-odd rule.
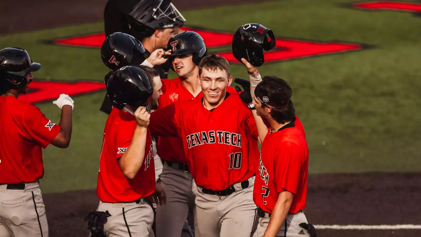
[[[163,59],[166,60],[166,59]],[[153,236],[152,207],[145,201],[166,203],[165,192],[155,185],[152,140],[147,129],[145,106],[152,97],[152,81],[139,67],[125,66],[115,71],[107,83],[113,103],[104,129],[95,212],[85,218],[91,235]]]

